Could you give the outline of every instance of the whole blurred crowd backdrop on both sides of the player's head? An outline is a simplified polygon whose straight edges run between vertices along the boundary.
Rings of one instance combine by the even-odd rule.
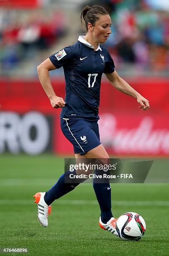
[[[50,56],[49,52],[52,54],[59,50],[59,46],[61,48],[75,43],[77,36],[84,34],[80,24],[81,10],[85,5],[95,4],[103,5],[112,18],[112,34],[106,46],[119,71],[123,71],[125,75],[134,75],[134,72],[145,75],[169,75],[169,4],[167,1],[76,1],[71,10],[66,5],[63,9],[58,8],[58,3],[49,8],[50,1],[48,2],[48,6],[44,8],[0,7],[1,76],[13,75],[12,70],[15,70],[15,75],[17,73],[20,75],[21,67],[24,67],[23,63],[30,63],[32,72],[30,74],[34,76],[36,71],[34,73],[33,70],[38,64],[35,63],[37,59],[42,61]],[[157,4],[157,2],[160,3]],[[68,13],[69,18],[67,18]],[[75,13],[76,15],[78,13],[77,21],[72,19],[75,18]],[[70,30],[75,23],[77,29],[71,35],[72,40],[69,41]],[[42,59],[37,56],[42,56]]]

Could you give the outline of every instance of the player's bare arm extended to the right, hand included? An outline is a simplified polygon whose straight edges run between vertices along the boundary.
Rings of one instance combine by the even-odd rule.
[[[109,82],[120,92],[123,92],[129,96],[132,96],[137,99],[137,102],[140,104],[139,108],[142,110],[149,109],[149,101],[145,99],[139,92],[134,90],[124,79],[119,77],[117,72],[114,70],[112,73],[105,74]]]

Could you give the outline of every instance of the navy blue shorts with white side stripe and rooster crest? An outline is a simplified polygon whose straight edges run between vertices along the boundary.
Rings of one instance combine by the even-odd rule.
[[[72,143],[74,153],[84,155],[99,146],[99,126],[97,121],[60,119],[62,133]]]

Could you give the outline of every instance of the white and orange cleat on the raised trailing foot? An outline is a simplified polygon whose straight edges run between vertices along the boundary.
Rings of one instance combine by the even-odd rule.
[[[52,206],[51,205],[48,206],[45,203],[45,200],[44,200],[45,193],[46,192],[38,192],[33,197],[35,197],[34,202],[37,203],[37,209],[38,209],[37,219],[40,221],[41,225],[46,228],[48,226],[47,218],[51,212]]]

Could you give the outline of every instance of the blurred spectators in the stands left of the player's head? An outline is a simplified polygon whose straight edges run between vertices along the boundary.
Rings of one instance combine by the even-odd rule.
[[[65,16],[59,10],[0,10],[0,62],[7,74],[22,61],[57,44],[66,33]]]

